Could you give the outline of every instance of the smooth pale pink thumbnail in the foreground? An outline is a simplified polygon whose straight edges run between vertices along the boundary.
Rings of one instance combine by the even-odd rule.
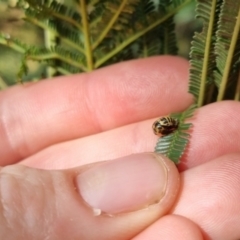
[[[159,202],[167,180],[163,158],[143,153],[96,164],[81,172],[76,183],[83,200],[99,215],[140,210]]]

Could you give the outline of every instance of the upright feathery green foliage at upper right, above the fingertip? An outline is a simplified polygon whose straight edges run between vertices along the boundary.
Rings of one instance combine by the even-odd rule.
[[[240,1],[199,0],[197,16],[204,26],[192,43],[189,92],[199,107],[239,100]]]

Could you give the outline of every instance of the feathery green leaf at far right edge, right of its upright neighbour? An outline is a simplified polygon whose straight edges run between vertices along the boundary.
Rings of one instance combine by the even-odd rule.
[[[238,81],[240,59],[240,1],[225,0],[221,6],[216,33],[216,65],[214,81],[219,88],[218,98],[224,98],[227,84]],[[233,98],[233,96],[231,96]]]

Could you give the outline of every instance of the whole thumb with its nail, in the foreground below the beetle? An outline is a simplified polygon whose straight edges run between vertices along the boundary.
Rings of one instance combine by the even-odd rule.
[[[63,171],[0,170],[0,239],[130,239],[179,189],[175,165],[153,153]]]

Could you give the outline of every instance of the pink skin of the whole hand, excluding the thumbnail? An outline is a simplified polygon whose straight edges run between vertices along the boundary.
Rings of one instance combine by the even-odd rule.
[[[22,239],[43,239],[50,225],[50,239],[94,239],[92,229],[104,240],[240,239],[239,102],[195,112],[190,144],[178,166],[179,194],[170,203],[94,217],[71,189],[69,179],[86,164],[153,151],[152,123],[186,109],[193,102],[187,89],[188,63],[165,56],[0,92],[0,179],[3,173],[20,179],[0,188],[1,237],[18,239],[14,234],[21,233]],[[178,173],[164,161],[173,179],[170,196],[178,188]],[[39,196],[31,199],[36,186]],[[24,215],[28,207],[30,216]]]

